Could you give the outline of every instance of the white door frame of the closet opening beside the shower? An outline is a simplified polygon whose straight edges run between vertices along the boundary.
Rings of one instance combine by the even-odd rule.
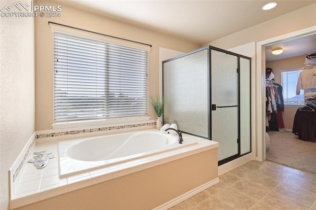
[[[266,111],[265,111],[265,74],[266,54],[265,47],[278,42],[299,38],[306,35],[316,34],[316,26],[302,29],[285,35],[276,36],[267,40],[257,42],[257,71],[256,71],[256,115],[257,115],[257,160],[266,159]]]

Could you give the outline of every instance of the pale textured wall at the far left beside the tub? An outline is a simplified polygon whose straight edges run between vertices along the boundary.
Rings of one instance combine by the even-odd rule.
[[[1,0],[0,8],[12,3]],[[34,19],[1,17],[0,43],[0,209],[6,210],[8,171],[35,132]]]

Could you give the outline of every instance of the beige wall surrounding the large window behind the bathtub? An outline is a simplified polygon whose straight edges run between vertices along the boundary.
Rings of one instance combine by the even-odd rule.
[[[35,0],[34,4],[56,5],[55,2],[43,0]],[[36,18],[36,130],[52,129],[53,123],[53,37],[48,21],[153,45],[149,54],[149,93],[157,96],[159,95],[159,47],[182,52],[201,47],[176,37],[153,33],[66,5],[62,5],[61,17]],[[151,119],[156,118],[151,106],[150,116]]]

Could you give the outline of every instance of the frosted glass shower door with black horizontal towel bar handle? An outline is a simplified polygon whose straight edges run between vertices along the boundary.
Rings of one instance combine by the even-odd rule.
[[[211,140],[221,165],[239,154],[238,57],[212,49],[211,58]]]

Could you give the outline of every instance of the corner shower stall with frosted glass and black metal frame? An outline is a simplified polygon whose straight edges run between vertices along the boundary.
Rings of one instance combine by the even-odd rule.
[[[162,62],[163,123],[219,142],[218,165],[251,152],[250,61],[207,46]]]

